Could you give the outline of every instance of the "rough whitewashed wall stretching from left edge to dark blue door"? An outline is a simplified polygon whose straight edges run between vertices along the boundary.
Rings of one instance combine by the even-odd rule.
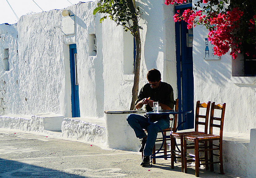
[[[77,46],[81,117],[103,117],[104,110],[130,108],[133,36],[109,19],[100,24],[100,15],[93,15],[96,6],[87,2],[67,7],[75,15],[72,35],[61,32],[62,10],[25,15],[16,25],[0,26],[5,37],[0,39],[1,54],[9,48],[10,55],[10,71],[3,70],[0,60],[2,114],[52,112],[71,117],[69,44]],[[176,96],[173,9],[164,0],[136,1],[136,6],[143,12],[139,87],[147,83],[147,71],[157,68]],[[90,56],[90,34],[97,37],[96,56]]]

